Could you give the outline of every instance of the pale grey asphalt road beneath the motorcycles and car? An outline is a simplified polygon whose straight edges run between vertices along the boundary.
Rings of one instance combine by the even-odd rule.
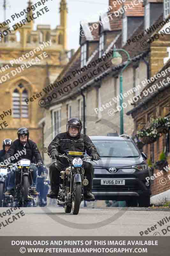
[[[3,216],[7,209],[0,208],[0,236],[140,236],[139,232],[148,228],[150,231],[145,236],[164,236],[161,230],[167,226],[169,231],[165,236],[170,236],[170,209],[164,208],[85,207],[73,215],[66,214],[63,207],[27,207]],[[23,216],[16,215],[21,210],[25,215],[23,212]],[[17,219],[12,221],[12,216]],[[11,223],[5,226],[9,217]],[[159,223],[163,218],[161,227]]]

